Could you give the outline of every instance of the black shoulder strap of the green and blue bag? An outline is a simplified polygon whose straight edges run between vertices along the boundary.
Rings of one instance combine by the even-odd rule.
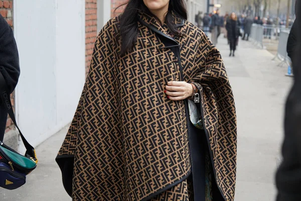
[[[0,72],[0,97],[1,97],[1,100],[2,100],[2,104],[4,105],[5,109],[8,111],[12,121],[14,122],[16,128],[18,129],[18,131],[21,135],[22,141],[23,141],[24,146],[26,148],[26,154],[25,155],[27,157],[32,157],[33,159],[35,159],[37,161],[35,148],[27,142],[27,140],[25,139],[25,137],[23,136],[21,130],[19,129],[19,127],[17,125],[15,114],[14,114],[12,103],[11,103],[10,93],[9,93],[8,87],[7,87],[7,83],[6,83],[6,81],[5,81],[5,79],[4,79],[1,72]]]

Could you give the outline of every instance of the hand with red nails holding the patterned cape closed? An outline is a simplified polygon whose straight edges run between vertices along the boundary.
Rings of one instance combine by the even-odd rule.
[[[169,81],[165,93],[171,100],[184,100],[193,95],[193,86],[185,81]]]

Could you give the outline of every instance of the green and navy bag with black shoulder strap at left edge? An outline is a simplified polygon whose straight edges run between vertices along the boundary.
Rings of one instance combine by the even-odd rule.
[[[0,141],[0,187],[16,189],[26,183],[26,175],[37,167],[38,159],[34,147],[27,142],[17,125],[7,84],[2,73],[0,73],[0,97],[26,148],[25,156],[23,156]]]

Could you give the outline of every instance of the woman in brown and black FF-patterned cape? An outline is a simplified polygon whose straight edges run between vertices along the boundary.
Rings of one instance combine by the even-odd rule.
[[[186,19],[183,0],[130,0],[98,34],[56,159],[73,200],[233,201],[232,89],[219,51]],[[205,130],[189,119],[196,93]]]

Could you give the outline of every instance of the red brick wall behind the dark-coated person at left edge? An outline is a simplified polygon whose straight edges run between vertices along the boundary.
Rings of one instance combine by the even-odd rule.
[[[9,25],[13,27],[13,0],[0,0],[0,14],[6,19]],[[11,95],[12,105],[15,106],[15,92]],[[6,133],[14,129],[11,118],[8,118]]]

